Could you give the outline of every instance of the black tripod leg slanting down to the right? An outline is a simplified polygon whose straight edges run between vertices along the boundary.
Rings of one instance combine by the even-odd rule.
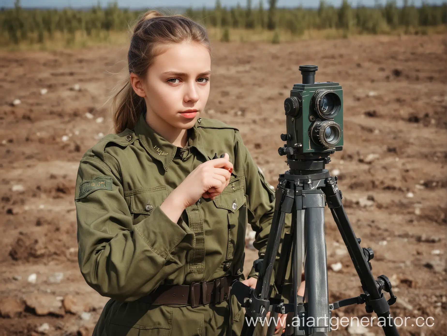
[[[379,317],[379,321],[383,324],[383,330],[386,336],[399,336],[396,326],[393,324],[393,319],[389,311],[389,304],[385,299],[383,293],[378,289],[377,282],[372,275],[367,259],[363,254],[363,249],[357,241],[354,230],[346,215],[345,208],[342,204],[342,199],[338,191],[337,183],[333,178],[326,179],[326,186],[322,187],[331,209],[335,223],[340,231],[343,241],[345,242],[350,257],[357,270],[363,291],[367,295],[367,304]]]

